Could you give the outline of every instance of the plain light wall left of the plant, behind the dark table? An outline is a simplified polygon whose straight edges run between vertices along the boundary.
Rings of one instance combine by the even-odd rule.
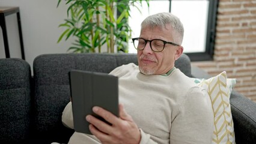
[[[0,7],[19,7],[22,24],[25,60],[31,65],[34,58],[45,53],[66,53],[72,38],[57,43],[63,28],[58,25],[67,18],[67,5],[58,0],[0,0]],[[21,58],[16,14],[6,17],[11,58]],[[4,40],[0,29],[0,58],[5,58]],[[32,70],[32,69],[31,69]]]

